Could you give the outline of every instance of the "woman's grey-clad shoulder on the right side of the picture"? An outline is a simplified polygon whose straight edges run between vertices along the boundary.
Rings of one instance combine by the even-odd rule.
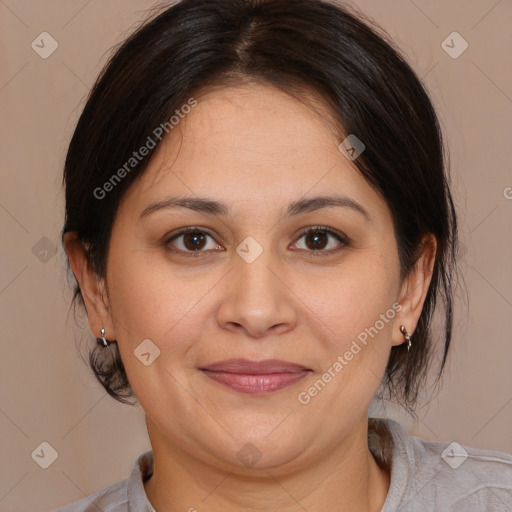
[[[512,454],[424,441],[396,421],[384,421],[392,437],[390,491],[399,496],[398,510],[510,512]]]

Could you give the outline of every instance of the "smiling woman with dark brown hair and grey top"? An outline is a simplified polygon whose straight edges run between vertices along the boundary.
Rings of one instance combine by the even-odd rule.
[[[385,35],[330,2],[183,0],[108,63],[64,180],[91,367],[152,450],[61,511],[510,507],[511,455],[368,418],[385,391],[414,415],[435,344],[441,376],[457,248]]]

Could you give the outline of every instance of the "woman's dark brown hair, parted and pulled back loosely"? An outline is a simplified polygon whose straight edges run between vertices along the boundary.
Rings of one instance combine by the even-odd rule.
[[[436,237],[413,348],[391,349],[381,386],[414,415],[434,343],[442,351],[438,378],[450,346],[457,218],[441,130],[424,86],[389,36],[348,7],[321,0],[183,0],[144,23],[101,72],[76,126],[64,168],[62,239],[76,232],[93,270],[105,277],[119,202],[151,154],[110,187],[107,199],[95,191],[195,92],[247,79],[295,95],[316,92],[339,133],[363,141],[366,149],[354,163],[391,210],[402,277],[417,261],[422,235]],[[85,305],[76,283],[77,299]],[[439,307],[443,327],[435,334]],[[113,359],[94,342],[89,362],[107,392],[129,403],[133,392],[118,347],[111,348]]]

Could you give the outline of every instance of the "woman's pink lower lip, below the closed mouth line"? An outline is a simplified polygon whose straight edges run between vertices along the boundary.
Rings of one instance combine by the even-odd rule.
[[[247,373],[227,373],[202,370],[202,372],[220,384],[227,386],[240,393],[258,394],[270,393],[286,388],[302,380],[311,373],[309,370],[287,373],[268,373],[268,374],[247,374]]]

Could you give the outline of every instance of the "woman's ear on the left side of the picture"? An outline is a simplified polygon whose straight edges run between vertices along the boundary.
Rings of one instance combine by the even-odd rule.
[[[89,328],[96,338],[101,337],[101,329],[105,329],[105,338],[115,340],[110,304],[106,293],[105,281],[90,266],[87,252],[82,242],[77,240],[76,233],[64,235],[64,248],[68,255],[73,274],[80,285],[82,297],[87,308]]]

